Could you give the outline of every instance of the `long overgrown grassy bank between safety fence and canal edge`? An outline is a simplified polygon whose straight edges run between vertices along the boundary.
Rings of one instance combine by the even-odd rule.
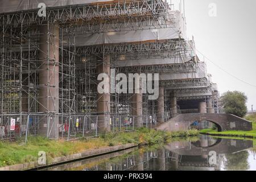
[[[130,133],[116,133],[104,137],[73,140],[49,140],[42,137],[29,137],[27,144],[0,142],[0,167],[36,161],[39,151],[45,151],[47,161],[57,156],[76,154],[86,150],[117,146],[119,144],[162,144],[175,137],[188,137],[199,134],[197,130],[168,133],[149,129],[139,129]]]

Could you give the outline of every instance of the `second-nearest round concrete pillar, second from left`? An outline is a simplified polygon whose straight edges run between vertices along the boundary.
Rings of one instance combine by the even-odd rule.
[[[97,113],[99,130],[110,131],[110,55],[105,56],[104,60],[97,64],[96,72],[108,75],[108,93],[97,94]]]

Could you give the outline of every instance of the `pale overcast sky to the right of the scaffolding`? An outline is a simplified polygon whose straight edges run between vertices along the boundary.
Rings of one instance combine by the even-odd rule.
[[[175,9],[179,9],[179,2],[172,0]],[[209,16],[211,3],[216,4],[217,16]],[[194,36],[198,51],[226,72],[256,86],[255,0],[185,0],[185,16],[188,37]],[[199,52],[197,54],[202,57]],[[228,90],[244,92],[248,97],[248,109],[251,105],[256,109],[256,87],[205,61],[220,93]]]

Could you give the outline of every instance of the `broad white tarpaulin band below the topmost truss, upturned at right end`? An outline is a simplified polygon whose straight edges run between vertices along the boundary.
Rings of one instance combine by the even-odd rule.
[[[101,32],[98,34],[80,34],[80,32],[77,32],[76,45],[91,46],[98,44],[143,42],[148,40],[187,39],[185,23],[181,13],[179,11],[174,11],[173,13],[175,15],[174,27],[117,32],[109,30],[110,32]]]

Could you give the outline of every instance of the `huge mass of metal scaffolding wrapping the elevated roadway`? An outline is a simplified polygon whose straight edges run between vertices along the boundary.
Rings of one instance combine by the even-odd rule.
[[[170,103],[170,93],[175,101],[213,98],[217,108],[217,89],[185,37],[184,24],[181,13],[162,0],[56,3],[47,7],[46,17],[36,7],[0,12],[0,126],[6,138],[44,133],[76,139],[131,131],[138,121],[154,127],[180,113],[179,105]],[[136,34],[138,41],[123,39],[122,32]],[[145,32],[151,35],[142,36]],[[99,73],[112,80],[111,70],[115,75],[165,74],[167,79],[159,80],[163,98],[98,93]],[[9,132],[11,119],[19,125]]]

